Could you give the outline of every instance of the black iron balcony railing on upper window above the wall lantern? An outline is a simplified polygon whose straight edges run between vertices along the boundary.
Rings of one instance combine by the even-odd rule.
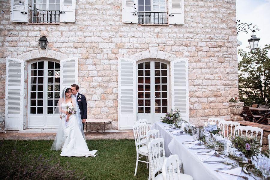
[[[30,23],[59,23],[60,10],[30,10]]]

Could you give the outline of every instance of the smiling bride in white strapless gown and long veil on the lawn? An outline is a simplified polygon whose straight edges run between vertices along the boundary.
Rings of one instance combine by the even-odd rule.
[[[75,114],[67,112],[70,106],[76,108]],[[60,156],[95,157],[98,150],[89,151],[87,147],[78,102],[69,87],[64,88],[54,111],[54,116],[60,119],[60,115],[62,118],[51,149],[56,151],[61,149]]]

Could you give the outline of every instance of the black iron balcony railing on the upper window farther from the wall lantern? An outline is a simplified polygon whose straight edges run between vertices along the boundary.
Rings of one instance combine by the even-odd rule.
[[[168,24],[166,12],[138,12],[139,24]]]

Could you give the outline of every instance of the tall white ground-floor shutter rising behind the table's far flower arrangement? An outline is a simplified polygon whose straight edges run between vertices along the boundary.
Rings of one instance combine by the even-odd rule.
[[[172,109],[180,110],[181,118],[189,121],[187,59],[172,61]]]

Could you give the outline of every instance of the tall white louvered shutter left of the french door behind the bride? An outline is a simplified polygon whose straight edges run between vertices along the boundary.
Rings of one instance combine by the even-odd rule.
[[[23,130],[24,61],[6,59],[5,108],[7,130]]]

